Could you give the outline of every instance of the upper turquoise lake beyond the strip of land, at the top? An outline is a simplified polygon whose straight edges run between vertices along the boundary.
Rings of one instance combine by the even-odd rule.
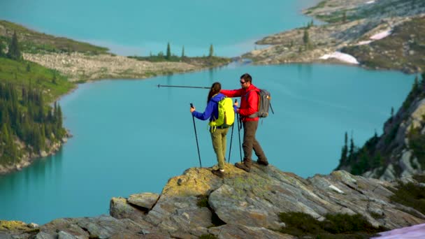
[[[301,9],[317,0],[0,1],[0,19],[46,34],[103,45],[120,55],[236,57],[269,34],[310,21]]]

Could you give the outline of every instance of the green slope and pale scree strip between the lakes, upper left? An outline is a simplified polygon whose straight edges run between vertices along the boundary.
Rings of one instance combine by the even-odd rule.
[[[231,61],[226,57],[173,56],[173,60],[168,60],[165,56],[117,56],[110,54],[108,48],[42,34],[7,21],[0,21],[0,49],[1,45],[6,49],[14,33],[17,34],[24,59],[55,69],[70,81],[151,78],[223,66]]]

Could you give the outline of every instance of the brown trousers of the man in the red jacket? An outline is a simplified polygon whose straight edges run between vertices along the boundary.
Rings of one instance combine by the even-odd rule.
[[[257,155],[259,161],[267,161],[266,155],[260,146],[260,143],[255,138],[257,132],[258,120],[243,122],[243,162],[250,167],[252,164],[252,150]]]

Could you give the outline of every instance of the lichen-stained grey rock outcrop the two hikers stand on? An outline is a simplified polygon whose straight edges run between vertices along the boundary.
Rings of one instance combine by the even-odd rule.
[[[110,215],[42,226],[2,222],[0,238],[294,238],[281,232],[289,225],[281,212],[303,212],[319,221],[329,214],[362,215],[386,229],[425,222],[422,212],[391,199],[395,182],[346,171],[303,179],[257,164],[251,173],[226,164],[222,179],[211,169],[189,168],[168,180],[159,195],[112,198]]]

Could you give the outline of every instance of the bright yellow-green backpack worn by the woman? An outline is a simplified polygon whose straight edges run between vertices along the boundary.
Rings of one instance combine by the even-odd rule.
[[[214,132],[217,127],[221,129],[229,128],[235,122],[235,110],[233,110],[233,102],[231,98],[223,97],[218,103],[218,119],[209,123],[211,132]]]

